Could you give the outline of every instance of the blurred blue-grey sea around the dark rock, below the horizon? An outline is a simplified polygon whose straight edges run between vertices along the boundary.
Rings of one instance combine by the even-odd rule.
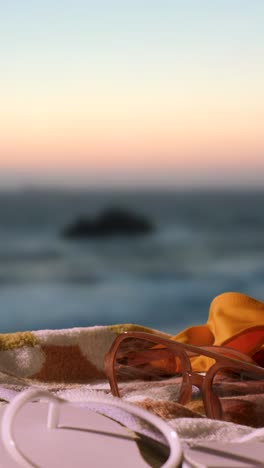
[[[113,206],[155,232],[60,236]],[[264,300],[264,192],[0,192],[0,332],[137,323],[174,334],[206,322],[225,291]]]

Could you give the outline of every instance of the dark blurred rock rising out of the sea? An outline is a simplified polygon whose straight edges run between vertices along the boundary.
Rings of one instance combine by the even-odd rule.
[[[93,220],[87,217],[78,218],[64,229],[63,236],[69,239],[136,236],[153,230],[152,223],[143,216],[121,209],[109,209]]]

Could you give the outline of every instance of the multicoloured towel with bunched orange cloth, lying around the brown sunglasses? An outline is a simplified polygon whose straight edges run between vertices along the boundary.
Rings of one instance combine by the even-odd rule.
[[[0,335],[0,399],[11,401],[28,387],[49,390],[69,401],[85,403],[91,392],[114,398],[104,373],[104,356],[124,331],[145,331],[194,345],[228,345],[262,362],[264,304],[240,293],[224,293],[211,303],[208,322],[178,335],[135,324],[116,324],[62,330],[36,330]],[[199,371],[204,370],[204,364]],[[260,395],[260,397],[263,395]],[[172,424],[185,443],[194,440],[263,440],[254,421],[212,421],[195,409],[159,398],[158,389],[134,392],[130,402]],[[263,403],[264,406],[264,403]],[[264,420],[264,419],[263,419]],[[260,431],[260,432],[258,432]]]

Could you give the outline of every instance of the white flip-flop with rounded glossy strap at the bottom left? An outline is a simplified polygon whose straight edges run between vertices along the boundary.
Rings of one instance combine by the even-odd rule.
[[[34,402],[32,401],[34,400]],[[37,401],[36,401],[37,400]],[[45,401],[46,400],[46,401]],[[108,408],[108,416],[89,409],[91,405]],[[91,397],[84,406],[66,402],[41,390],[26,390],[7,406],[0,408],[1,468],[82,468],[153,466],[139,449],[136,434],[114,417],[123,411],[159,431],[164,444],[145,438],[151,445],[149,456],[159,466],[181,465],[182,449],[176,432],[161,418],[120,399]],[[129,417],[127,418],[129,420]],[[143,424],[143,425],[144,425]],[[147,443],[147,445],[148,445]],[[162,452],[161,447],[167,450]],[[146,450],[147,453],[147,450]],[[169,455],[168,455],[169,453]]]

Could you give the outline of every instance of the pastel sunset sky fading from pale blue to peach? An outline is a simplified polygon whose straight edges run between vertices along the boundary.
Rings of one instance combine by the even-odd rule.
[[[0,188],[259,187],[263,0],[0,0]]]

